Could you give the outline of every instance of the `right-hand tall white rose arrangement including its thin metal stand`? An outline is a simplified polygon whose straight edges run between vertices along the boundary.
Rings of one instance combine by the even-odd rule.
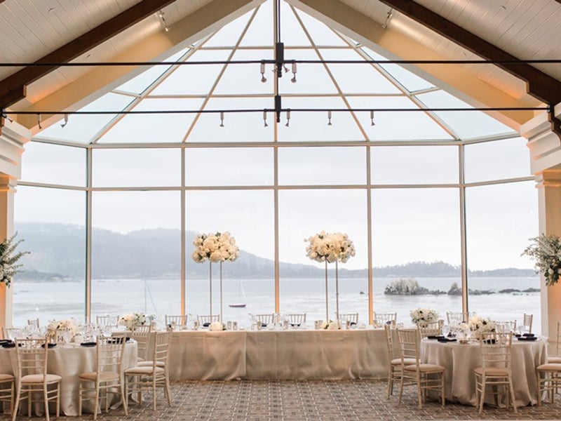
[[[304,240],[306,255],[316,262],[325,262],[325,320],[329,320],[329,300],[327,294],[327,263],[335,262],[335,298],[337,305],[337,324],[339,323],[339,262],[345,263],[355,255],[355,246],[347,234],[325,231]]]

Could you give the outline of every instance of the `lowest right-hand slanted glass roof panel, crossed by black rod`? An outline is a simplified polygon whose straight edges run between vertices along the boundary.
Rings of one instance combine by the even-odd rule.
[[[417,98],[430,108],[473,108],[445,91],[424,93],[417,95]],[[513,133],[510,127],[480,111],[446,111],[435,114],[454,128],[462,139]]]

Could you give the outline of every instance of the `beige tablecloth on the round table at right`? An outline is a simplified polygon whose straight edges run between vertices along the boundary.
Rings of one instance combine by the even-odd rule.
[[[516,404],[517,406],[526,406],[529,403],[533,405],[538,399],[536,366],[546,362],[546,342],[542,339],[519,341],[513,338],[511,355]],[[445,368],[447,400],[477,405],[473,369],[482,365],[480,345],[442,343],[424,339],[421,341],[421,362],[438,364]]]

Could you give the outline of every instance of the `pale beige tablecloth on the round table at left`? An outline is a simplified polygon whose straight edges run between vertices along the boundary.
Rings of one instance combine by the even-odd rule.
[[[137,358],[136,342],[127,342],[123,368],[135,365]],[[18,371],[15,349],[0,347],[0,372],[14,374]],[[78,415],[80,373],[95,371],[95,347],[80,345],[58,345],[48,349],[47,373],[58,374],[60,382],[60,411],[64,415]],[[22,403],[27,408],[25,401]],[[42,411],[42,406],[41,406]],[[84,412],[93,412],[93,401],[84,401]]]

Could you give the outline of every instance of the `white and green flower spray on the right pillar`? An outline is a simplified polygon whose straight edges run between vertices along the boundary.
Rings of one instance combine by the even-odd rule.
[[[530,239],[534,243],[527,246],[522,255],[536,261],[536,272],[543,273],[546,286],[555,285],[561,276],[561,241],[555,234]]]

